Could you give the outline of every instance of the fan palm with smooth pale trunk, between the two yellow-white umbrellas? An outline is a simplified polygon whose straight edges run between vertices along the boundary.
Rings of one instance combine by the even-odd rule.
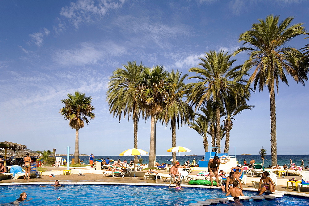
[[[137,85],[137,95],[145,118],[151,117],[149,167],[155,164],[155,122],[167,105],[171,84],[166,79],[167,72],[163,66],[144,68],[142,79]]]

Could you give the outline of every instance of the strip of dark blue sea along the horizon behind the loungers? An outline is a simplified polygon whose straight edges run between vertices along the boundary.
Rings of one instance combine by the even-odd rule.
[[[57,156],[60,157],[60,156]],[[109,158],[109,159],[120,159],[121,161],[123,160],[127,160],[128,162],[130,162],[131,159],[134,159],[133,156],[95,156],[95,159],[101,159],[101,158]],[[193,159],[195,158],[196,163],[198,163],[199,160],[201,160],[204,156],[203,155],[190,155],[190,156],[186,156],[186,155],[180,155],[180,156],[176,156],[176,159],[179,161],[180,164],[184,164],[184,162],[190,160],[190,163],[192,163]],[[66,159],[67,156],[62,156],[62,158]],[[70,159],[74,158],[74,156],[70,156]],[[138,159],[142,158],[143,159],[143,164],[146,164],[149,162],[149,156],[138,156]],[[156,156],[156,162],[158,163],[171,163],[171,161],[168,161],[169,159],[171,159],[172,156],[168,155],[168,156],[160,156],[157,155]],[[243,160],[246,159],[247,163],[250,162],[250,159],[254,159],[256,163],[263,163],[261,156],[260,155],[236,155],[237,161],[239,164],[243,164]],[[79,156],[80,160],[83,160],[83,163],[85,164],[89,164],[89,156]],[[293,163],[295,163],[297,166],[301,165],[301,160],[304,160],[304,166],[306,167],[306,165],[309,164],[309,155],[277,155],[277,164],[279,165],[290,165],[290,159],[292,159]],[[271,165],[271,155],[266,155],[265,156],[265,160],[264,160],[264,166],[268,167],[269,165]]]

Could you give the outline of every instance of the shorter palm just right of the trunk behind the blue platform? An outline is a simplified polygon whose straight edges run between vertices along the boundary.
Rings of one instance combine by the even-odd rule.
[[[248,100],[248,97],[247,97]],[[226,130],[226,136],[225,136],[225,148],[224,153],[228,153],[229,146],[230,146],[230,130],[233,128],[233,121],[235,120],[233,117],[240,114],[245,109],[252,109],[253,105],[247,105],[246,98],[239,98],[238,101],[235,100],[234,97],[231,95],[228,95],[223,100],[224,103],[224,128]]]

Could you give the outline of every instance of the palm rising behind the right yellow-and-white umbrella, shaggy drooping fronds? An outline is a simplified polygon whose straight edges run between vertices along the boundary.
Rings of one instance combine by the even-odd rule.
[[[167,79],[171,83],[171,90],[167,99],[167,107],[160,117],[162,124],[165,122],[166,126],[171,121],[172,147],[176,146],[176,124],[179,129],[179,123],[182,126],[194,118],[192,107],[184,101],[184,97],[188,94],[188,87],[190,86],[190,84],[184,84],[184,79],[188,74],[181,76],[181,73],[178,70],[176,72],[171,70],[171,72],[167,73]],[[176,152],[173,152],[172,155],[173,163],[176,163]]]

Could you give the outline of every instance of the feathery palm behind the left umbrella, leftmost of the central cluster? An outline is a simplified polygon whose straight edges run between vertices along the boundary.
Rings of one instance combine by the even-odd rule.
[[[110,113],[113,117],[128,115],[128,122],[132,116],[134,127],[134,148],[138,148],[138,120],[140,117],[140,106],[135,98],[137,90],[136,85],[141,80],[143,71],[142,63],[137,65],[136,61],[128,61],[122,65],[124,68],[117,68],[108,82],[108,91],[106,101],[109,105]],[[138,162],[138,155],[134,156],[134,162]]]

